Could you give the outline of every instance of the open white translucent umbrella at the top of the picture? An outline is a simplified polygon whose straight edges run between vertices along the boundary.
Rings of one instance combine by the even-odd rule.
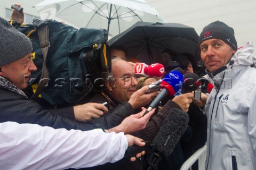
[[[163,22],[144,0],[45,0],[34,6],[41,19],[76,28],[101,28],[114,37],[137,21]]]

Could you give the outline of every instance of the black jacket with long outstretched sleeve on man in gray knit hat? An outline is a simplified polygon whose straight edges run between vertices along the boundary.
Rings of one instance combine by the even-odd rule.
[[[73,107],[60,109],[45,109],[36,101],[29,100],[15,91],[0,86],[0,121],[18,123],[35,123],[41,126],[51,126],[54,129],[79,129],[82,131],[96,128],[110,129],[119,125],[130,113],[124,112],[129,108],[127,104],[120,104],[118,109],[106,113],[100,118],[89,122],[74,120]]]

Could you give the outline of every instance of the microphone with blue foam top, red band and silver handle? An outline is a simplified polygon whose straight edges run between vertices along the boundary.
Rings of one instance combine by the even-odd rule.
[[[151,102],[144,115],[146,115],[153,108],[155,108],[165,96],[173,96],[177,91],[179,91],[179,89],[182,87],[182,84],[183,70],[180,67],[177,67],[176,69],[172,70],[169,74],[166,74],[161,82],[161,88],[163,88],[162,91]]]

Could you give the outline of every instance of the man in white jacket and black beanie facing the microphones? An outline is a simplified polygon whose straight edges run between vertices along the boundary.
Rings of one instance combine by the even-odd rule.
[[[207,25],[199,36],[209,97],[194,101],[207,116],[205,169],[256,169],[256,57],[252,41],[237,49],[234,29]]]

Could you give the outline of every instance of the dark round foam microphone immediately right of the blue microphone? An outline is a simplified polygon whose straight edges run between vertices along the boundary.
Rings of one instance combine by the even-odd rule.
[[[192,92],[199,88],[201,82],[198,81],[200,78],[195,73],[187,73],[184,75],[184,83],[182,86],[182,94],[186,94],[187,92]]]

